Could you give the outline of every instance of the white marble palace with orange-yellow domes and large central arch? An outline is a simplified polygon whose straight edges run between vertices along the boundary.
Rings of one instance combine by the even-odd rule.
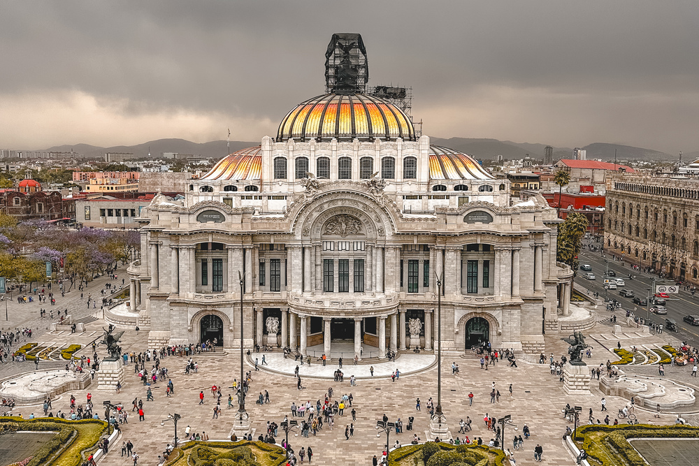
[[[345,52],[331,42],[333,53]],[[418,137],[356,73],[340,81],[340,63],[274,138],[140,212],[131,309],[149,346],[238,347],[242,298],[247,347],[430,351],[441,289],[443,349],[543,351],[572,281],[556,263],[556,211],[540,197],[513,205],[508,180]]]

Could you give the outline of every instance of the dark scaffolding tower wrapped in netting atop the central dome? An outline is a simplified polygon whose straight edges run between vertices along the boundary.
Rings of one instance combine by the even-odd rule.
[[[328,94],[363,94],[369,65],[361,34],[333,34],[325,52],[325,89]]]

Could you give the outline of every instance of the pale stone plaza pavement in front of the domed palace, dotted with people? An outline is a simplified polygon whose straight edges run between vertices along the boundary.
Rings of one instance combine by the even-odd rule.
[[[120,279],[118,280],[120,282]],[[91,287],[99,293],[99,285]],[[93,291],[93,295],[96,294]],[[75,303],[76,308],[80,308],[80,293],[71,293],[70,298],[77,298]],[[86,295],[87,296],[87,295]],[[69,299],[70,299],[69,298]],[[68,301],[68,300],[66,300]],[[29,308],[31,305],[18,305],[21,309]],[[84,304],[83,304],[84,305]],[[59,304],[57,308],[64,308],[66,305]],[[31,308],[29,308],[31,309]],[[75,312],[73,310],[69,312]],[[603,315],[599,316],[600,319]],[[44,322],[48,326],[48,319],[38,319],[38,305],[36,306],[35,321],[41,322],[43,327]],[[27,321],[31,321],[31,316],[27,317]],[[94,321],[87,325],[87,331],[84,335],[71,335],[69,333],[62,335],[46,335],[43,332],[35,333],[31,339],[33,341],[48,341],[50,337],[55,342],[64,341],[72,343],[76,341],[89,340],[87,335],[92,335],[93,332],[101,332],[104,322],[101,320]],[[595,328],[586,330],[586,335],[599,337],[610,333],[610,328],[597,324]],[[630,333],[633,337],[633,333]],[[567,354],[568,345],[560,340],[561,337],[567,335],[547,334],[545,335],[547,356],[553,353],[556,358]],[[637,344],[635,338],[630,337],[623,342],[624,347],[630,347]],[[648,338],[658,340],[658,342],[675,343],[672,335],[651,335],[644,337],[639,341],[648,341]],[[92,337],[94,339],[94,337]],[[586,358],[585,361],[591,366],[605,363],[607,359],[613,355],[605,351],[599,344],[593,340],[588,341],[593,344],[593,357]],[[615,346],[613,342],[610,347]],[[147,332],[136,333],[135,330],[127,329],[122,337],[122,348],[124,351],[145,351],[147,349]],[[88,353],[90,349],[87,349]],[[101,357],[105,356],[104,349],[98,350]],[[405,374],[395,382],[389,377],[390,372],[395,370],[396,364],[407,363],[410,361],[410,356],[405,354],[398,358],[395,363],[375,363],[375,377],[359,379],[358,386],[349,386],[349,375],[353,370],[365,370],[368,372],[368,365],[352,365],[345,364],[345,381],[343,383],[334,382],[329,379],[317,379],[308,377],[304,380],[303,385],[306,387],[303,391],[296,390],[296,379],[293,375],[281,374],[279,372],[288,371],[287,367],[282,367],[280,353],[277,352],[268,358],[270,363],[269,369],[279,372],[271,372],[268,370],[260,370],[254,372],[254,366],[246,361],[245,370],[253,371],[253,382],[250,388],[250,393],[247,402],[247,411],[250,412],[252,418],[252,427],[255,429],[254,437],[257,437],[260,432],[265,432],[266,421],[275,421],[280,423],[284,415],[291,415],[289,407],[294,401],[298,405],[300,402],[310,400],[322,400],[329,387],[333,388],[336,397],[344,393],[352,393],[354,397],[353,407],[356,409],[357,419],[354,423],[354,437],[349,441],[345,440],[345,425],[351,422],[351,416],[347,410],[346,416],[337,416],[336,425],[331,430],[329,425],[325,424],[323,430],[319,431],[316,437],[310,434],[308,439],[291,433],[289,442],[294,449],[300,449],[301,446],[312,446],[315,453],[313,463],[320,465],[370,465],[373,455],[380,455],[382,447],[385,443],[385,435],[377,436],[375,423],[383,414],[387,414],[391,421],[401,418],[404,426],[408,424],[408,416],[415,416],[415,430],[404,430],[402,434],[396,435],[391,432],[390,444],[393,445],[398,439],[402,444],[409,444],[414,432],[417,432],[419,437],[424,441],[426,439],[425,432],[428,430],[429,414],[426,409],[428,398],[436,399],[437,385],[437,367],[431,365],[422,372],[414,374]],[[420,355],[428,356],[428,355]],[[261,354],[260,354],[261,361]],[[239,377],[240,374],[240,358],[236,351],[230,351],[229,354],[202,354],[194,358],[199,363],[199,372],[196,374],[185,375],[183,367],[185,358],[166,357],[161,361],[161,365],[168,367],[169,374],[175,385],[175,395],[167,398],[164,390],[165,384],[159,383],[152,386],[155,400],[145,401],[145,387],[138,381],[134,374],[133,366],[129,363],[125,367],[125,383],[122,392],[117,394],[114,391],[103,391],[96,387],[96,381],[92,386],[84,391],[71,392],[78,399],[78,402],[84,403],[88,392],[93,395],[93,402],[97,411],[102,414],[101,402],[110,400],[112,402],[121,402],[131,414],[131,401],[134,398],[144,400],[145,421],[139,422],[138,416],[131,416],[128,425],[123,425],[123,435],[118,439],[117,444],[103,460],[104,465],[131,465],[131,460],[120,456],[120,444],[123,441],[131,440],[134,443],[135,449],[140,455],[139,463],[141,465],[157,464],[157,456],[163,451],[167,442],[171,442],[173,438],[173,425],[166,423],[161,426],[161,420],[166,418],[168,413],[177,412],[182,416],[178,425],[180,436],[184,435],[184,430],[187,425],[192,427],[192,432],[206,431],[210,439],[226,439],[229,437],[231,427],[233,425],[233,416],[236,413],[237,407],[227,409],[227,398],[231,391],[231,383],[234,377]],[[460,374],[452,376],[451,365],[452,361],[459,364]],[[54,364],[61,366],[60,363],[45,363],[43,369],[48,365]],[[574,465],[575,460],[571,454],[563,446],[562,436],[567,425],[571,425],[563,419],[561,409],[566,403],[571,406],[579,405],[583,407],[581,418],[586,422],[589,408],[592,407],[596,417],[603,419],[604,415],[600,416],[600,399],[601,393],[593,384],[592,394],[586,396],[568,396],[562,388],[559,377],[549,374],[548,365],[538,365],[519,361],[519,367],[507,367],[506,363],[498,363],[496,366],[490,366],[489,370],[480,369],[480,363],[475,358],[462,357],[445,357],[442,360],[442,407],[447,416],[452,436],[463,438],[463,434],[459,434],[459,419],[470,416],[473,420],[473,431],[468,432],[470,439],[482,437],[484,441],[488,441],[493,437],[493,432],[489,432],[484,428],[482,421],[486,413],[498,418],[506,414],[512,415],[512,421],[518,426],[517,434],[521,433],[521,427],[526,423],[531,429],[531,439],[525,441],[524,451],[516,452],[515,458],[520,465],[533,464],[533,449],[537,443],[540,443],[544,449],[543,463],[549,465]],[[306,366],[304,366],[306,367]],[[320,365],[313,365],[313,371],[328,371],[330,374],[336,369],[336,363],[330,363],[327,367],[322,368]],[[400,367],[400,366],[398,366]],[[265,366],[264,369],[267,367]],[[3,372],[17,373],[34,370],[34,363],[11,363],[2,367]],[[629,372],[644,372],[657,371],[656,366],[649,367],[629,367]],[[675,373],[684,377],[686,367],[667,367],[666,373],[673,377]],[[689,370],[691,372],[691,368]],[[687,374],[689,374],[687,372]],[[315,375],[324,375],[318,373]],[[303,376],[303,372],[302,372]],[[673,377],[674,378],[674,377]],[[489,402],[489,392],[491,383],[496,383],[496,388],[500,391],[500,402],[491,404]],[[212,419],[215,400],[210,393],[212,385],[222,386],[223,395],[221,416],[217,419]],[[512,384],[514,395],[510,398],[509,385]],[[264,406],[259,406],[254,403],[259,392],[264,390],[269,391],[271,403]],[[203,391],[206,395],[203,405],[199,405],[199,391]],[[475,398],[473,406],[468,405],[468,393],[473,391]],[[71,393],[64,393],[61,398],[53,402],[52,412],[57,412],[62,409],[64,412],[69,411],[69,397]],[[420,398],[423,409],[421,412],[415,410],[415,400]],[[621,409],[628,403],[628,400],[623,398],[607,397],[607,413],[610,414],[610,419],[613,421],[616,416],[617,409]],[[15,409],[15,413],[20,412],[26,418],[30,413],[38,415],[41,413],[40,406],[20,407]],[[136,414],[136,413],[133,413]],[[606,414],[606,413],[605,413]],[[639,420],[643,423],[673,423],[675,416],[672,414],[663,414],[661,419],[654,418],[652,413],[644,412],[637,409],[636,414]],[[684,416],[687,417],[687,416]],[[283,432],[280,430],[280,436],[277,437],[278,442],[282,439]],[[514,431],[512,428],[507,428],[505,434],[505,448],[512,449],[512,437]]]

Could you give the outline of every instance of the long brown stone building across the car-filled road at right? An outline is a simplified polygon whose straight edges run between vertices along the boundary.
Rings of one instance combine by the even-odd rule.
[[[608,252],[699,284],[699,180],[617,175],[605,217]]]

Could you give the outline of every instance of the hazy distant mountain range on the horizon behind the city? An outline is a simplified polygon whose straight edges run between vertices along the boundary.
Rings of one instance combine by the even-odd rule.
[[[482,160],[496,159],[498,155],[502,155],[508,160],[523,159],[526,154],[529,154],[532,159],[542,160],[546,147],[545,144],[513,143],[509,140],[478,138],[431,138],[431,143],[459,150],[473,156],[475,159]],[[255,145],[259,145],[259,142],[231,141],[231,152]],[[602,159],[605,161],[614,160],[614,150],[617,151],[617,160],[619,161],[674,161],[679,157],[679,155],[665,154],[665,152],[644,149],[643,147],[610,143],[592,143],[581,148],[587,151],[588,159]],[[118,145],[113,147],[98,147],[88,144],[59,145],[50,147],[45,151],[70,152],[71,150],[90,159],[101,159],[106,152],[130,152],[134,154],[136,159],[147,157],[149,152],[151,156],[159,156],[162,152],[178,152],[180,154],[203,156],[208,159],[220,159],[228,152],[225,140],[215,140],[209,143],[192,143],[184,139],[158,139],[138,145]],[[554,147],[554,161],[571,158],[572,148]],[[687,163],[698,158],[699,151],[688,152],[682,156],[682,160]]]

